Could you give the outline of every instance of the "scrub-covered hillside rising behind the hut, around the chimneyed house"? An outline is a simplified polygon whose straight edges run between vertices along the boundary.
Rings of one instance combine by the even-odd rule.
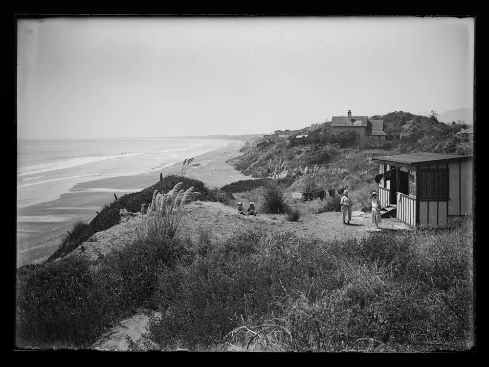
[[[267,152],[253,149],[230,163],[252,177],[267,178],[278,174],[279,178],[293,180],[303,176],[301,169],[308,166],[308,170],[311,170],[318,165],[327,168],[327,172],[321,176],[333,181],[340,178],[338,169],[346,172],[341,180],[346,178],[344,183],[350,184],[376,173],[375,164],[369,163],[376,155],[413,151],[472,154],[473,147],[468,139],[456,134],[467,127],[466,124],[445,124],[439,122],[436,115],[426,117],[402,111],[373,116],[372,119],[384,120],[384,131],[387,134],[400,134],[401,139],[359,143],[355,133],[333,135],[331,126],[325,124],[310,132],[307,140],[291,136],[289,143],[278,143]],[[287,163],[285,169],[282,166],[284,163]],[[277,167],[277,164],[281,167]]]

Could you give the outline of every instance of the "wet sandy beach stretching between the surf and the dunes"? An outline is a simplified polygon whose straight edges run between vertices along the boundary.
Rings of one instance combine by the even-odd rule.
[[[196,156],[200,167],[189,166],[187,176],[196,178],[208,187],[248,179],[235,170],[227,160],[242,155],[242,142]],[[163,168],[163,176],[181,173],[182,162]],[[89,223],[104,204],[131,192],[141,191],[159,180],[160,172],[134,176],[103,178],[75,184],[58,199],[18,210],[17,265],[44,261],[63,240],[64,234],[78,220]]]

